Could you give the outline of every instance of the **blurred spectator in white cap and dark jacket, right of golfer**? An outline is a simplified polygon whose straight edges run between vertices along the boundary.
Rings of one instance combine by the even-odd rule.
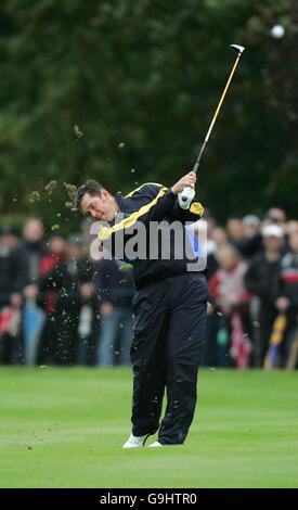
[[[249,292],[259,296],[259,339],[256,345],[256,365],[262,366],[269,346],[272,326],[276,318],[276,292],[284,246],[284,232],[278,225],[267,225],[262,231],[263,251],[257,254],[245,276]]]

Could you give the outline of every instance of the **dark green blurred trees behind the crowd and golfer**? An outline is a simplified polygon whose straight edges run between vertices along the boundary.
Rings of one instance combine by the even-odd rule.
[[[63,182],[87,177],[114,192],[172,183],[192,168],[237,42],[247,51],[198,196],[220,220],[273,203],[295,215],[294,0],[4,0],[0,15],[2,213],[38,212],[51,225],[68,200]]]

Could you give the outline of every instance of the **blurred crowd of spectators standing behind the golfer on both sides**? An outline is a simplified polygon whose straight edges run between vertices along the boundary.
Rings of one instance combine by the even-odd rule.
[[[208,367],[298,366],[298,221],[210,215]],[[90,224],[64,239],[42,221],[0,229],[0,365],[129,365],[133,282],[117,260],[90,258]]]

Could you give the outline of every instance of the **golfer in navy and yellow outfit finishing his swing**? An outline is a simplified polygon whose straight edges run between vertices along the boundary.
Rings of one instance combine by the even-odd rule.
[[[138,222],[145,227],[148,237],[153,222],[179,221],[186,230],[185,222],[199,219],[204,213],[199,203],[182,208],[179,200],[179,193],[194,188],[195,182],[196,175],[189,173],[170,189],[145,183],[124,196],[113,195],[99,182],[89,180],[78,188],[75,205],[83,215],[107,224],[100,239],[122,233],[128,242],[131,233],[126,232],[131,232]],[[204,271],[189,271],[186,255],[176,259],[172,241],[168,250],[166,258],[157,246],[158,258],[131,260],[137,290],[132,302],[132,433],[124,448],[144,446],[157,431],[158,438],[150,446],[181,445],[194,417],[208,290]],[[167,407],[160,423],[165,391]]]

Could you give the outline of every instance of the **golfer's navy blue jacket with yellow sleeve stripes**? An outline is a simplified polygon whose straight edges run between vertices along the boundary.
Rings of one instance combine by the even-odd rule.
[[[182,209],[179,206],[177,195],[170,189],[152,182],[141,186],[126,196],[118,193],[115,199],[121,213],[120,220],[117,221],[116,218],[116,220],[109,224],[109,227],[102,227],[99,231],[99,238],[101,241],[111,240],[112,238],[112,253],[117,258],[117,235],[122,235],[125,243],[127,243],[137,232],[135,226],[135,232],[131,233],[133,226],[138,221],[145,226],[147,234],[146,258],[131,259],[126,256],[124,257],[126,262],[132,264],[132,275],[137,290],[154,281],[186,272],[189,262],[186,255],[180,259],[174,258],[173,232],[169,237],[169,258],[163,256],[159,244],[156,246],[158,252],[157,259],[148,257],[150,246],[152,248],[152,244],[150,244],[152,243],[152,237],[150,239],[150,225],[153,221],[159,224],[163,220],[168,224],[178,220],[182,225],[186,221],[197,221],[204,213],[202,204],[194,202],[191,204],[190,209]],[[130,233],[127,233],[128,229],[130,229]],[[161,230],[170,231],[170,228],[165,226]]]

